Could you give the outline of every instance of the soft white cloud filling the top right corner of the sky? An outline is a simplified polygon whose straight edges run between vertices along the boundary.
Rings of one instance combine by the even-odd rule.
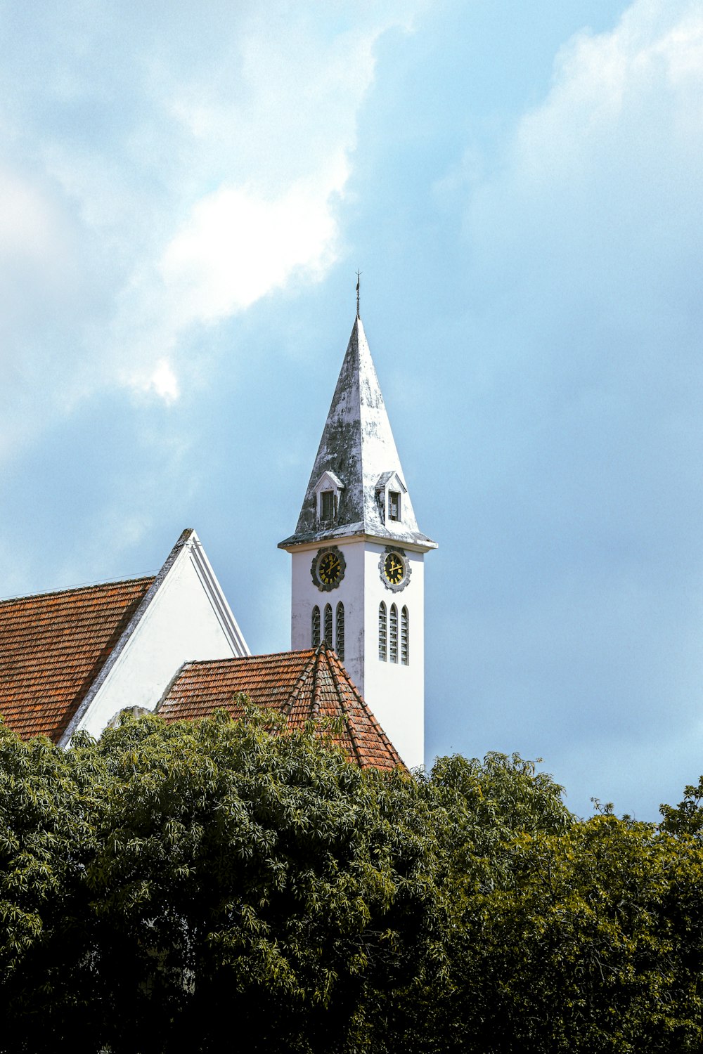
[[[634,269],[651,282],[703,227],[701,100],[700,4],[637,0],[613,31],[563,48],[503,176],[474,188],[470,236],[496,262],[519,242],[539,280],[587,270],[604,294]]]

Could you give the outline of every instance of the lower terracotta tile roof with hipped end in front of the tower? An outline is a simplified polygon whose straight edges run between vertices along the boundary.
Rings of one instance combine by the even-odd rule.
[[[279,710],[292,729],[310,719],[344,717],[346,733],[336,741],[350,760],[363,767],[403,765],[349,674],[325,644],[307,651],[185,663],[158,710],[169,721],[207,717],[218,707],[236,717],[243,713],[236,700],[239,692],[256,706]]]

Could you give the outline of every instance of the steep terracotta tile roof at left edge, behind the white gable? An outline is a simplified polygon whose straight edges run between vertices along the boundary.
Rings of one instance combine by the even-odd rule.
[[[153,578],[0,601],[0,715],[58,740]]]

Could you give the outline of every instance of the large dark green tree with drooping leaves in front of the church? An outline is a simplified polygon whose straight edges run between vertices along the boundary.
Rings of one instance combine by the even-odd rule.
[[[427,803],[312,729],[270,730],[148,717],[65,754],[5,734],[27,772],[46,759],[25,780],[43,813],[5,801],[7,829],[41,828],[7,890],[30,936],[5,973],[6,1050],[75,1030],[86,1051],[207,1051],[232,1028],[253,1050],[379,1049],[371,994],[392,1002],[442,944]],[[15,874],[26,847],[5,844]]]

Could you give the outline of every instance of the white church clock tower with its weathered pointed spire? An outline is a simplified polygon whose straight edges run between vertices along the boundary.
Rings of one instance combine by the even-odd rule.
[[[409,767],[425,749],[424,561],[362,319],[356,316],[295,533],[291,647],[334,647]]]

